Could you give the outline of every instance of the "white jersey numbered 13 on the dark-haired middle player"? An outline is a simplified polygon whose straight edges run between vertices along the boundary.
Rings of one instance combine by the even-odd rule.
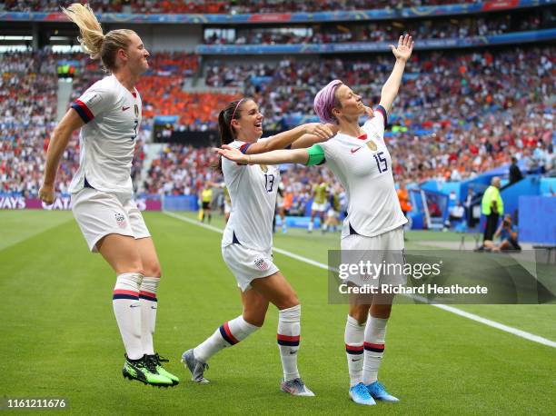
[[[248,144],[235,141],[230,146],[244,153]],[[223,158],[222,170],[232,200],[222,246],[240,243],[257,251],[270,250],[280,169],[273,165],[242,165]]]

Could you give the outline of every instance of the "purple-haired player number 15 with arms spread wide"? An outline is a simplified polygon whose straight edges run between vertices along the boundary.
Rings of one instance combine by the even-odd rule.
[[[327,163],[348,197],[349,214],[343,223],[341,243],[343,252],[402,253],[403,250],[402,225],[407,220],[394,189],[392,160],[383,134],[387,114],[402,83],[405,64],[412,54],[412,37],[400,36],[398,46],[391,45],[391,48],[396,63],[382,86],[381,102],[376,112],[365,107],[361,96],[339,80],[334,80],[316,94],[315,112],[323,122],[336,123],[340,128],[339,133],[327,142],[314,144],[310,149],[277,150],[268,154],[242,154],[229,145],[217,149],[219,154],[233,162],[250,165]],[[359,117],[365,112],[374,116],[360,126]],[[385,277],[380,276],[381,282]],[[393,276],[388,282],[398,284],[402,279],[403,276]],[[393,296],[381,293],[372,295],[370,300],[365,297],[365,300],[367,302],[350,298],[345,326],[350,397],[356,403],[367,405],[375,404],[375,399],[398,401],[377,380]]]

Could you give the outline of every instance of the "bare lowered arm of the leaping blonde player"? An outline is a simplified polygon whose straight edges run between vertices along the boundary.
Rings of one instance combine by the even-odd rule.
[[[62,121],[56,125],[54,133],[48,144],[48,152],[46,153],[45,177],[43,185],[39,189],[39,198],[44,203],[54,203],[55,201],[55,178],[58,165],[65,148],[69,143],[69,139],[75,130],[84,125],[83,119],[77,112],[70,108],[65,114]]]

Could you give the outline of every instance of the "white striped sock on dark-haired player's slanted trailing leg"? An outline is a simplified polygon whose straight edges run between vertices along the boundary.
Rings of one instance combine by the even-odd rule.
[[[210,337],[195,347],[194,356],[200,362],[207,362],[216,352],[243,341],[258,329],[258,326],[246,322],[240,315],[232,321],[224,322]]]

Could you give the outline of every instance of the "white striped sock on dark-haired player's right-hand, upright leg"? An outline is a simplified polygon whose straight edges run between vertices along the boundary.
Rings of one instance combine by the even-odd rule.
[[[297,351],[301,333],[301,305],[278,312],[278,348],[282,359],[283,380],[299,378]]]

